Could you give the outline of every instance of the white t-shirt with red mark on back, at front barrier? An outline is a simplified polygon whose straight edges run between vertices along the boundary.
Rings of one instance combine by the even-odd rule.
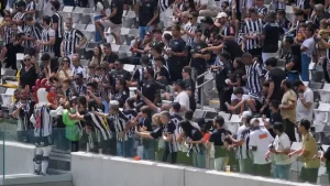
[[[274,141],[274,138],[266,129],[256,129],[250,133],[250,146],[256,146],[256,151],[253,151],[253,163],[263,165],[268,164],[272,161],[265,160],[265,154],[270,150],[270,144]]]

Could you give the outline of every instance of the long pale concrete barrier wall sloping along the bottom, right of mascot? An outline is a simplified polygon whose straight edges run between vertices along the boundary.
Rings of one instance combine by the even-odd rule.
[[[311,186],[82,152],[72,154],[72,174],[75,186]]]

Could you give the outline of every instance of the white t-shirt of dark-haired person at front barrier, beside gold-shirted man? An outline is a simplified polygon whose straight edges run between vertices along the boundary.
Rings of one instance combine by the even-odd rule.
[[[290,139],[286,133],[282,133],[280,136],[276,135],[273,142],[276,151],[284,151],[290,149]],[[292,158],[285,154],[274,154],[274,160],[276,165],[292,164]]]

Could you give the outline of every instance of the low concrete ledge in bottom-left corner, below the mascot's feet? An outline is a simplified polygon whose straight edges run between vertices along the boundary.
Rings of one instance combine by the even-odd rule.
[[[50,183],[72,183],[70,174],[38,176],[34,174],[12,174],[1,176],[0,185],[30,185],[30,184],[50,184]]]

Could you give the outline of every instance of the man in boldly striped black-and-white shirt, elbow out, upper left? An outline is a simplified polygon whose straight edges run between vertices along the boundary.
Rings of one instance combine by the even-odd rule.
[[[67,30],[64,33],[64,40],[62,42],[62,57],[68,56],[72,58],[72,55],[79,52],[84,46],[87,39],[79,30],[73,29],[72,18],[66,19],[65,25]]]

